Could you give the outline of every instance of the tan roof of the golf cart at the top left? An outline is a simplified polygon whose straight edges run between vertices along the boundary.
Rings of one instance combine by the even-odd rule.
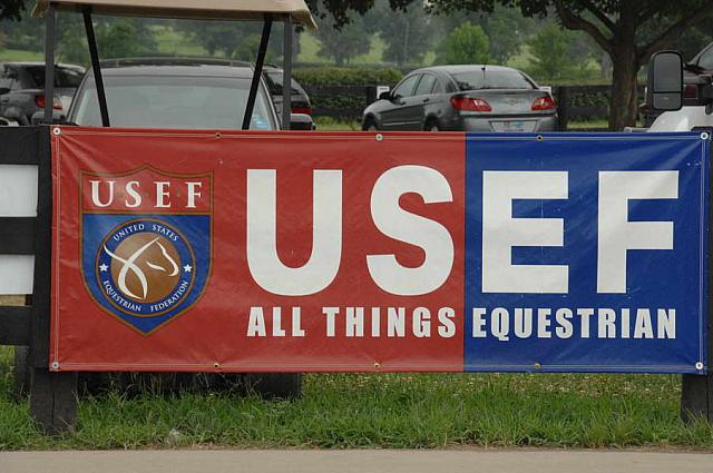
[[[33,17],[40,17],[50,2],[58,10],[120,17],[186,18],[207,20],[262,20],[266,13],[290,14],[293,21],[316,28],[304,0],[38,0]]]

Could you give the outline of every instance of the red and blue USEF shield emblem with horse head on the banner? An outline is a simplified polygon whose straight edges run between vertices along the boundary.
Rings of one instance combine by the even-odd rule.
[[[81,272],[106,313],[150,335],[191,311],[212,264],[213,175],[82,173]]]

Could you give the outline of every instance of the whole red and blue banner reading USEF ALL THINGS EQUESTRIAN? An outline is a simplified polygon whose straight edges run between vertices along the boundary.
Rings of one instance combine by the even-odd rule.
[[[56,371],[707,372],[706,134],[53,128]]]

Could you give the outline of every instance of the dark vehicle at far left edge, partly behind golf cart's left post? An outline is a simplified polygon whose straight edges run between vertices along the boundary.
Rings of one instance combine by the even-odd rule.
[[[55,110],[67,111],[85,69],[80,66],[55,67]],[[0,63],[0,117],[30,125],[32,115],[45,108],[45,65],[41,62]]]

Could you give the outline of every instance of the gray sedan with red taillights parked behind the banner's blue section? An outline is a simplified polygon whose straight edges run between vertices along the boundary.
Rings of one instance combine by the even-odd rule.
[[[408,73],[367,107],[364,130],[553,131],[557,109],[526,73],[499,66],[438,66]]]

